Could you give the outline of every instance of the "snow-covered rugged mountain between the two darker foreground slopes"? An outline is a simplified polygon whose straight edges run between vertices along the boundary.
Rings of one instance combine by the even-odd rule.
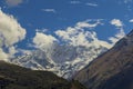
[[[32,50],[13,58],[10,62],[34,70],[52,71],[68,79],[106,50],[108,48],[98,44],[74,47],[55,43],[50,48]]]

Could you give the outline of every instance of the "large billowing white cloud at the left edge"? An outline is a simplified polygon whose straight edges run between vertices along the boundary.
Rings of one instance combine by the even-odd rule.
[[[20,23],[10,14],[6,14],[0,10],[0,52],[2,57],[6,55],[14,53],[14,43],[23,40],[25,37],[25,29],[23,29]],[[8,49],[9,51],[3,51],[2,48]],[[12,49],[12,51],[10,50]]]

